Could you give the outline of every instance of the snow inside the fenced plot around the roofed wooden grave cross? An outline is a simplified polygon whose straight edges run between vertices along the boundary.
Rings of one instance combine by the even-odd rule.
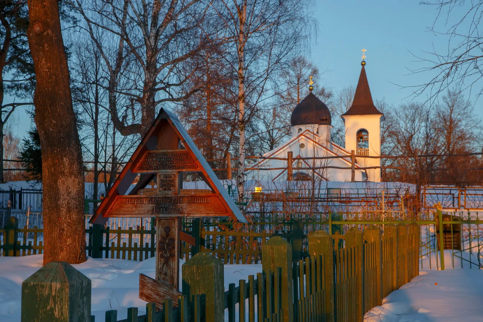
[[[43,255],[0,257],[1,322],[20,322],[22,281],[42,267],[42,261]],[[155,265],[155,258],[143,262],[88,258],[73,266],[92,280],[91,314],[96,321],[104,321],[109,309],[117,310],[118,320],[127,318],[129,307],[138,307],[139,315],[145,313],[146,302],[139,298],[139,273],[154,278]],[[248,275],[261,270],[261,264],[225,265],[225,289],[229,283],[238,285],[239,280],[248,280]]]

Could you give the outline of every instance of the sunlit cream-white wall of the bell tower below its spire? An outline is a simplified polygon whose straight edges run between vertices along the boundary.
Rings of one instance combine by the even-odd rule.
[[[369,155],[381,155],[381,118],[382,115],[344,116],[345,149],[357,151],[357,131],[366,129],[369,133]],[[361,167],[379,167],[381,166],[381,159],[357,158],[357,163]],[[381,169],[368,169],[367,173],[369,181],[381,181]]]

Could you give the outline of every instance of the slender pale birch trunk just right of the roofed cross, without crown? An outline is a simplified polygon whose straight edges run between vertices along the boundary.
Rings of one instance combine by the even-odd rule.
[[[240,21],[238,35],[238,132],[240,142],[238,146],[238,202],[243,202],[245,184],[245,74],[244,74],[244,50],[245,50],[245,21],[247,1],[243,1],[238,8]]]

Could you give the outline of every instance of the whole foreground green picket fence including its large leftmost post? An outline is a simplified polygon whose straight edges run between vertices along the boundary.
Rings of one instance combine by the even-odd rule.
[[[418,237],[415,223],[387,224],[384,232],[374,225],[364,232],[354,227],[335,239],[317,231],[309,236],[310,256],[297,261],[293,261],[289,242],[272,237],[261,247],[262,272],[238,285],[229,284],[227,291],[224,264],[209,252],[199,252],[182,267],[184,293],[176,308],[172,300],[164,301],[159,311],[149,303],[145,315],[138,316],[137,308],[129,308],[128,319],[121,321],[362,321],[365,312],[381,305],[384,296],[419,274]],[[337,239],[345,241],[343,248]],[[60,275],[70,282],[56,280],[59,269],[65,270]],[[45,286],[49,274],[61,285]],[[68,308],[62,314],[90,312],[90,280],[68,264],[44,266],[24,281],[22,294],[23,321],[44,318],[57,305],[52,306],[52,301]],[[104,321],[117,322],[117,312],[107,311]]]

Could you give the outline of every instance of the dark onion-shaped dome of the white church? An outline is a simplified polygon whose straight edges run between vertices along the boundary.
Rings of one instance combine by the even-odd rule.
[[[331,125],[332,117],[327,105],[313,95],[312,91],[297,104],[290,117],[292,126],[304,124]]]

